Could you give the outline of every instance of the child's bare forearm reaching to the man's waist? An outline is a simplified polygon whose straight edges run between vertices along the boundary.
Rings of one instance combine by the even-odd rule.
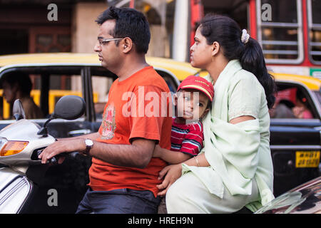
[[[190,159],[191,155],[185,154],[183,152],[177,152],[172,150],[167,150],[156,145],[153,153],[153,157],[160,157],[170,164],[178,164],[180,162],[185,162],[185,160]]]

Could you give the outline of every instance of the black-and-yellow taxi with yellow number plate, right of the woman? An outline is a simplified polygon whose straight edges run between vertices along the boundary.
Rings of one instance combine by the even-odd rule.
[[[278,90],[275,106],[287,101],[288,107],[294,108],[300,98],[312,114],[310,118],[271,118],[274,194],[278,196],[321,175],[321,80],[277,73],[273,76]]]

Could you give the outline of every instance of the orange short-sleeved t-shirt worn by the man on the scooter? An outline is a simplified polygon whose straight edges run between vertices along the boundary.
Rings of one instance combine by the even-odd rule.
[[[171,100],[168,98],[165,103],[162,102],[162,93],[170,94],[170,90],[152,66],[143,68],[124,81],[117,79],[108,94],[97,141],[129,145],[133,138],[145,138],[156,140],[161,147],[169,150],[172,118],[168,112],[163,116],[161,110],[164,108],[162,105],[166,106],[165,110],[170,110]],[[147,94],[153,94],[153,98],[146,98]],[[151,108],[151,103],[158,106]],[[148,110],[156,115],[150,115]],[[93,157],[88,185],[96,191],[120,188],[151,190],[156,197],[156,185],[161,183],[158,173],[165,165],[165,161],[153,157],[147,167],[138,169],[112,165]]]

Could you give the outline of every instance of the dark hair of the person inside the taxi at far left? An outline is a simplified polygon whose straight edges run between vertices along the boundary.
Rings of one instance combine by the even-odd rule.
[[[17,85],[18,89],[24,96],[30,95],[32,83],[27,73],[24,73],[22,71],[11,71],[1,77],[1,85],[2,83],[4,83],[4,81],[6,81],[6,83],[9,83],[11,87]]]

